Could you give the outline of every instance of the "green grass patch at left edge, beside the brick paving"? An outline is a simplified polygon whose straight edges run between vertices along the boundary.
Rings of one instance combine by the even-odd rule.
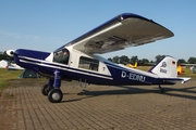
[[[8,81],[11,79],[17,79],[23,70],[8,70],[7,68],[0,68],[0,95],[3,88],[8,86]]]

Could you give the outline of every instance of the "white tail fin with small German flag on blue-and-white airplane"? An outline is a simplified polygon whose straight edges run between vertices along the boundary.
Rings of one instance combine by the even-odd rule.
[[[154,73],[160,77],[176,77],[176,60],[172,56],[166,56],[157,65],[148,72]]]

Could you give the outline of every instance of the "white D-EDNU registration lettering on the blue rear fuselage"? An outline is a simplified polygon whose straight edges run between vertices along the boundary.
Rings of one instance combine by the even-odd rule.
[[[133,73],[126,74],[126,72],[122,72],[121,77],[122,78],[127,77],[131,80],[136,80],[136,81],[140,81],[140,82],[145,82],[145,80],[146,80],[145,76],[142,76],[142,75],[138,75],[138,74],[133,74]]]

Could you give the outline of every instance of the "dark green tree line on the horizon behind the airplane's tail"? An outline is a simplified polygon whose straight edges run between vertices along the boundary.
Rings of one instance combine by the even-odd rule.
[[[117,63],[117,64],[135,64],[137,62],[138,65],[152,65],[158,63],[160,60],[162,60],[166,55],[157,55],[155,56],[155,62],[154,61],[149,61],[148,58],[142,58],[139,60],[137,57],[137,55],[132,56],[131,58],[128,58],[128,56],[126,55],[122,55],[122,56],[113,56],[113,57],[109,57],[108,61]],[[196,64],[196,57],[189,57],[187,61],[180,58],[177,61],[177,64]]]

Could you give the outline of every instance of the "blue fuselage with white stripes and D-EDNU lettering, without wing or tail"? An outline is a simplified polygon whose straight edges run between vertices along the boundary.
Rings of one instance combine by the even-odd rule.
[[[69,49],[68,49],[69,50]],[[78,80],[95,84],[171,84],[158,80],[157,76],[135,68],[111,63],[105,58],[70,51],[68,64],[53,62],[54,53],[20,49],[15,51],[15,63],[47,77],[60,72],[61,79]],[[95,69],[90,68],[94,66]]]

